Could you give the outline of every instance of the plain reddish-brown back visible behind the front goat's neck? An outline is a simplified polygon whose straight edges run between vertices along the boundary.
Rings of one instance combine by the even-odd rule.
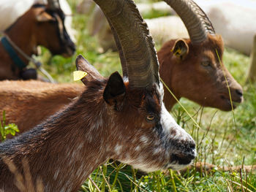
[[[0,90],[0,114],[4,110],[7,123],[15,123],[23,133],[72,103],[84,86],[6,80],[0,82]]]

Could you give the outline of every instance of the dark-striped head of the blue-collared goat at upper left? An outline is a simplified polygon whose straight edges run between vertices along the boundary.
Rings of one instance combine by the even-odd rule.
[[[75,44],[64,26],[65,15],[59,1],[48,0],[48,5],[34,4],[32,8],[38,45],[47,47],[53,55],[72,56]]]

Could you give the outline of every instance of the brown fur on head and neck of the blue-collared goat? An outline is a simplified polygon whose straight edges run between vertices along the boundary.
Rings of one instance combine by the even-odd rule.
[[[24,15],[7,28],[5,34],[12,39],[12,42],[17,45],[20,50],[23,50],[26,55],[37,55],[37,45],[47,47],[53,55],[62,54],[64,56],[71,56],[74,53],[75,45],[69,39],[68,35],[66,44],[60,42],[59,31],[56,24],[49,21],[39,22],[37,16],[51,16],[45,12],[45,6],[34,5]],[[60,10],[61,12],[61,10]],[[51,21],[53,22],[53,21]],[[70,40],[70,41],[69,41]],[[17,53],[17,52],[16,52]],[[17,53],[24,64],[28,65],[29,61],[26,60],[20,53]],[[10,55],[4,49],[0,42],[0,80],[18,80],[21,79],[20,72],[23,69],[18,69]]]

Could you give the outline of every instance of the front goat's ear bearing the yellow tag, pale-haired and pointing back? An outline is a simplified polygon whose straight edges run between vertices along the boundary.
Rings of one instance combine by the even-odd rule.
[[[104,77],[102,77],[101,74],[97,71],[97,69],[92,66],[89,61],[87,61],[85,58],[83,58],[82,55],[78,55],[78,57],[75,60],[75,65],[77,66],[78,71],[86,72],[86,77],[83,77],[81,81],[84,85],[87,85],[87,83],[91,80],[102,80]]]

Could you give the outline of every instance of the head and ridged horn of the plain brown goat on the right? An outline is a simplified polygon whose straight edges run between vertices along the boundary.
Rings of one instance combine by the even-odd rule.
[[[222,64],[222,37],[215,34],[211,21],[194,1],[165,1],[183,20],[190,39],[172,40],[159,51],[161,64],[172,64],[173,76],[167,77],[168,72],[162,71],[162,77],[172,78],[166,81],[177,97],[187,97],[206,107],[232,110],[227,83],[233,107],[236,107],[234,102],[243,101],[243,90]]]

